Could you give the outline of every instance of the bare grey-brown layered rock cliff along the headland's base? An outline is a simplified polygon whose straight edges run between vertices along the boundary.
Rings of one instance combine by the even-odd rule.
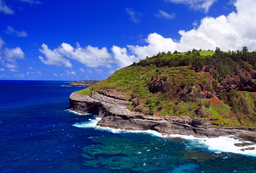
[[[256,137],[256,131],[248,127],[240,129],[215,128],[213,119],[190,117],[144,115],[127,109],[124,97],[106,92],[81,96],[74,92],[69,97],[70,108],[80,113],[97,114],[101,118],[97,125],[115,129],[155,130],[162,134],[193,135],[196,137],[218,137],[245,135]]]

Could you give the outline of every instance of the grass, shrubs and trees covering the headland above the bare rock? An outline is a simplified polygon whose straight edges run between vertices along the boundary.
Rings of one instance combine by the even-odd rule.
[[[78,93],[126,95],[146,115],[213,119],[216,127],[256,127],[256,53],[193,49],[157,53]]]

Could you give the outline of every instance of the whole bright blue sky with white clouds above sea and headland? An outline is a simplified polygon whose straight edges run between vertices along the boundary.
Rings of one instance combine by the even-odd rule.
[[[0,80],[104,80],[160,52],[256,50],[256,0],[0,0]]]

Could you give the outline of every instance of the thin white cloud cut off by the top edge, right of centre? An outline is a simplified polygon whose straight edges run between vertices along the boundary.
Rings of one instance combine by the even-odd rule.
[[[205,13],[216,0],[165,0],[172,3],[183,3],[189,6],[190,9],[204,10]]]

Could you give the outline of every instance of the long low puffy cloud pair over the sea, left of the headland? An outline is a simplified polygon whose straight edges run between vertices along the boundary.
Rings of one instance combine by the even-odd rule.
[[[79,43],[76,43],[76,48],[67,43],[62,43],[61,46],[54,50],[48,49],[45,44],[43,44],[42,47],[43,50],[39,50],[41,53],[45,54],[47,59],[44,60],[42,56],[39,56],[39,58],[43,63],[48,65],[72,67],[72,64],[66,58],[75,59],[88,67],[110,67],[109,63],[112,63],[111,54],[107,52],[106,47],[102,47],[101,49],[90,45],[80,47]]]

